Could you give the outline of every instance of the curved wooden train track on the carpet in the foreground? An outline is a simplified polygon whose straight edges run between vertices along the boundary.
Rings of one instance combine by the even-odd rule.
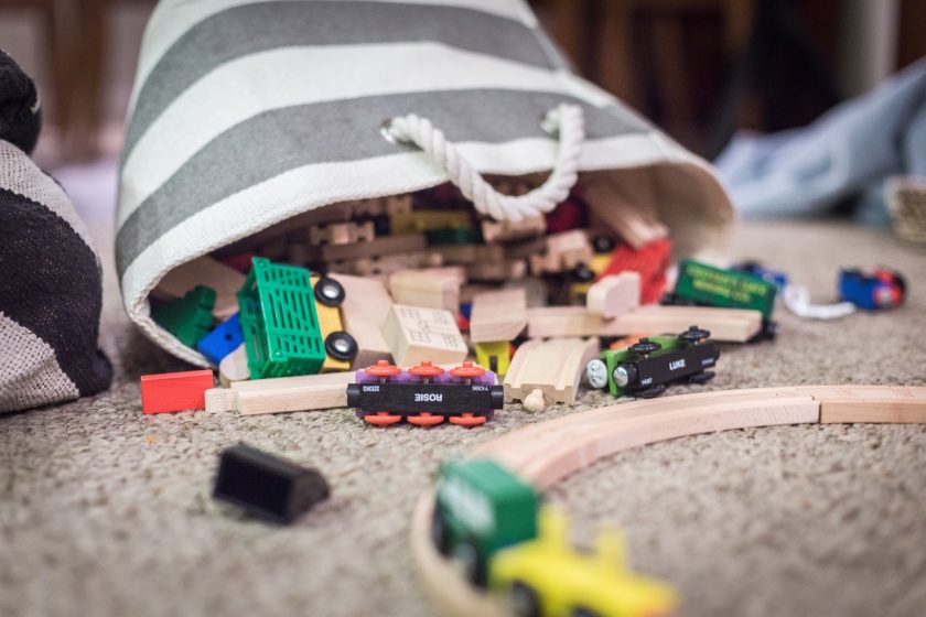
[[[545,489],[600,458],[656,442],[751,426],[881,422],[926,423],[926,388],[796,386],[726,390],[613,404],[530,424],[473,452],[498,461]],[[423,495],[411,521],[411,549],[431,600],[443,614],[504,616],[434,549],[434,495]]]

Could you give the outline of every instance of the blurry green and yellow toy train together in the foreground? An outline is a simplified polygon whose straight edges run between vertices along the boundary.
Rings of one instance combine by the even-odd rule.
[[[448,463],[431,538],[470,583],[507,599],[518,616],[653,617],[675,610],[675,589],[633,572],[616,532],[601,532],[594,554],[575,551],[566,515],[540,501],[534,487],[494,461]]]

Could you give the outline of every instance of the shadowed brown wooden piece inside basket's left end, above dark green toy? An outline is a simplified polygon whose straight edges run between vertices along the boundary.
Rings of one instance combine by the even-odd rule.
[[[245,275],[212,257],[200,257],[181,263],[161,279],[151,295],[161,300],[174,300],[196,285],[207,285],[215,290],[213,315],[227,320],[238,312],[238,290],[245,284]]]

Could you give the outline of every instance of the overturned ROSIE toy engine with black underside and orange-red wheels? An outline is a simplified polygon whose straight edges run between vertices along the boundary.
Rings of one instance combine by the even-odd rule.
[[[347,407],[369,424],[388,426],[408,421],[419,426],[444,419],[461,426],[491,420],[505,402],[505,389],[495,374],[466,361],[444,371],[430,361],[401,370],[386,360],[357,371],[347,386]]]

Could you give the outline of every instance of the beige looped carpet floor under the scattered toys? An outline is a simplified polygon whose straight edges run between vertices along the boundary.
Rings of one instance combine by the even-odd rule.
[[[725,346],[717,379],[699,390],[926,385],[926,256],[842,224],[744,227],[734,253],[788,271],[821,302],[839,266],[890,264],[913,283],[909,302],[830,323],[779,310],[779,339]],[[111,275],[107,294],[112,389],[0,418],[3,616],[429,615],[407,532],[438,462],[572,411],[513,407],[473,431],[381,431],[345,411],[142,416],[139,375],[184,367],[128,324]],[[290,528],[214,502],[217,453],[239,441],[316,466],[333,497]],[[683,615],[918,617],[924,464],[919,425],[736,431],[624,453],[550,498],[569,505],[583,542],[618,522],[635,564],[680,587]]]

